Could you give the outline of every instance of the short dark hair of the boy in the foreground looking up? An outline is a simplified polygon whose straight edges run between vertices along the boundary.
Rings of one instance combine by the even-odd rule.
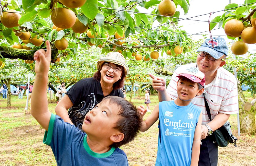
[[[117,104],[121,118],[116,122],[116,127],[124,134],[124,139],[120,142],[113,143],[113,147],[120,147],[134,140],[142,126],[142,118],[137,111],[136,106],[124,98],[118,96],[108,96],[102,101],[108,100],[110,104]],[[102,102],[101,101],[101,102]]]

